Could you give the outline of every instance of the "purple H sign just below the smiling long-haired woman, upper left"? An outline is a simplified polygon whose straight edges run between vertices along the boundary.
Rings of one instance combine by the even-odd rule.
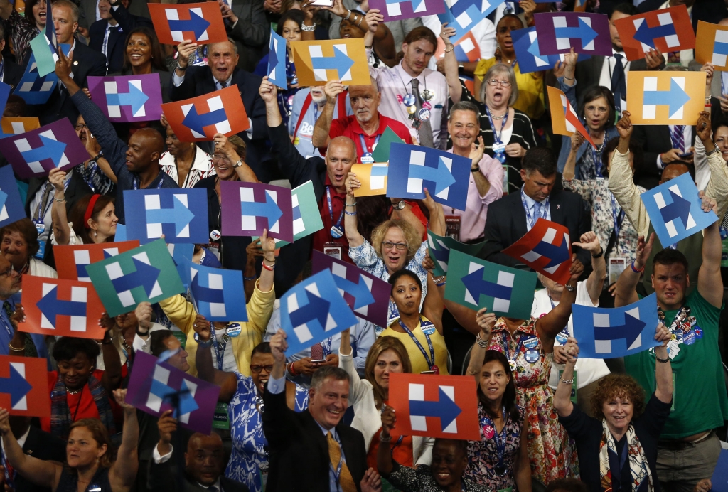
[[[89,77],[91,100],[112,123],[151,122],[162,116],[159,74]]]

